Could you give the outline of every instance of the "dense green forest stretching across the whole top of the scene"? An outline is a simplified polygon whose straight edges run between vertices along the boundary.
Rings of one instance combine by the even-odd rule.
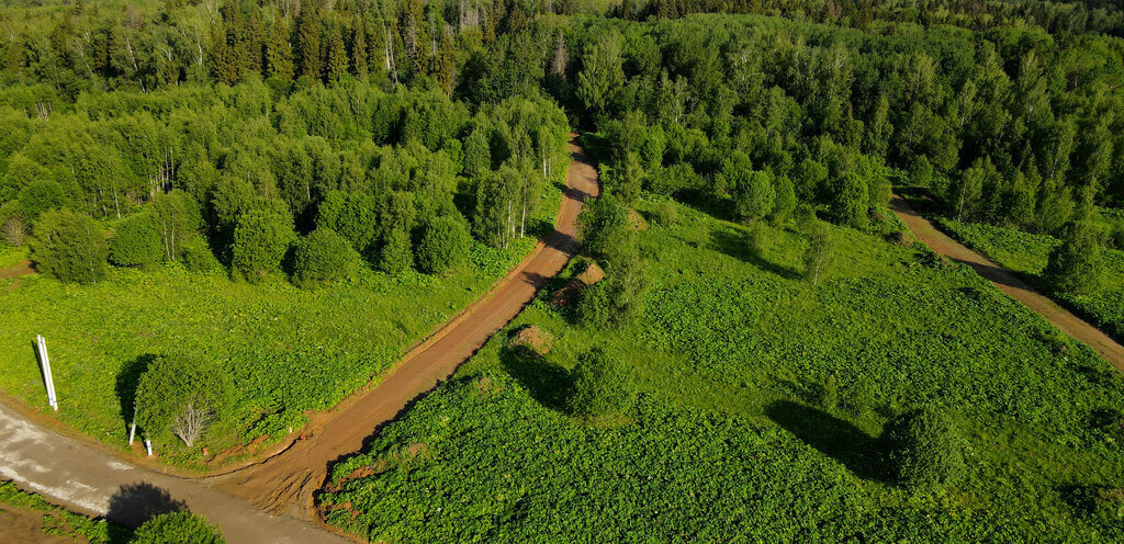
[[[335,230],[374,265],[438,217],[502,244],[562,170],[554,102],[607,136],[607,184],[626,201],[643,187],[754,219],[799,200],[861,226],[905,176],[958,219],[1097,223],[1109,239],[1090,218],[1124,203],[1122,43],[1100,34],[1120,12],[931,3],[626,2],[611,18],[551,15],[598,9],[565,2],[8,8],[4,229],[20,243],[37,223],[80,227],[43,217],[56,208],[123,219],[101,250],[120,265],[197,263],[198,230],[243,274],[275,268],[291,227]],[[664,20],[690,11],[791,19]],[[347,215],[364,203],[371,217]],[[273,251],[237,255],[250,210],[243,235]],[[42,264],[65,274],[51,246]]]

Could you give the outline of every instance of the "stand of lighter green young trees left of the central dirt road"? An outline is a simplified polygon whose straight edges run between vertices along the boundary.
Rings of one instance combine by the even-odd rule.
[[[568,162],[568,120],[541,98],[470,112],[438,89],[359,81],[203,91],[84,94],[46,119],[0,108],[0,211],[33,235],[40,270],[83,282],[107,260],[221,263],[248,279],[285,262],[299,283],[364,262],[441,273],[465,261],[470,233],[496,246],[525,236]]]

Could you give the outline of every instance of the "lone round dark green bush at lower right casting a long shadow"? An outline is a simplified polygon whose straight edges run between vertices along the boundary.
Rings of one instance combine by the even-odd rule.
[[[948,412],[926,406],[899,416],[887,428],[898,481],[916,488],[953,486],[964,477],[964,438]]]

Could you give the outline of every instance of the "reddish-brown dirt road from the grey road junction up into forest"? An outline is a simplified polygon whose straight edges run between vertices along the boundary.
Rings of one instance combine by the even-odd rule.
[[[323,421],[314,421],[314,436],[262,464],[216,478],[215,488],[270,511],[310,516],[312,491],[325,482],[332,463],[359,452],[375,429],[452,375],[565,266],[575,245],[582,201],[599,194],[592,160],[573,142],[570,149],[573,162],[566,173],[556,229],[535,253],[489,294],[407,354],[378,388],[343,402]]]

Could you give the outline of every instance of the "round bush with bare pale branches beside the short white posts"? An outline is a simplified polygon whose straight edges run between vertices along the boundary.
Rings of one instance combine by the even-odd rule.
[[[219,365],[182,355],[156,357],[140,374],[136,421],[146,436],[176,436],[188,446],[230,407],[230,381]]]

